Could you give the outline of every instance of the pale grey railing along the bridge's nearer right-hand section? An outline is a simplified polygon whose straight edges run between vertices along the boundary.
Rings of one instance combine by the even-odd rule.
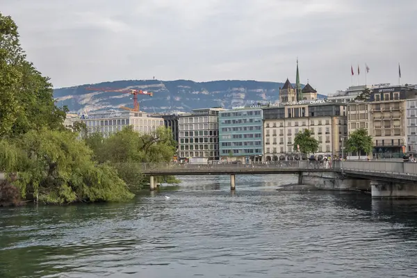
[[[417,175],[417,163],[395,161],[334,161],[333,168],[365,172],[384,172]]]

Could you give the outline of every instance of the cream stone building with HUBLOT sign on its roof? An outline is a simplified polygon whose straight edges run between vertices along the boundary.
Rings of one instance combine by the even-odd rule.
[[[316,155],[339,155],[341,138],[347,136],[344,104],[325,100],[303,100],[276,104],[263,109],[263,150],[265,161],[297,160],[295,135],[309,129],[319,142]],[[304,157],[306,158],[306,157]]]

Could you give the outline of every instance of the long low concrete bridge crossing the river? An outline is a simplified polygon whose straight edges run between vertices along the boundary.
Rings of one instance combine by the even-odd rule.
[[[326,167],[327,166],[327,167]],[[327,182],[333,189],[345,189],[361,183],[372,190],[373,197],[417,197],[417,163],[398,161],[332,161],[329,165],[311,161],[278,161],[271,164],[179,164],[141,163],[154,190],[154,176],[229,174],[231,190],[236,188],[236,174],[297,174],[298,184],[309,177],[313,185]]]

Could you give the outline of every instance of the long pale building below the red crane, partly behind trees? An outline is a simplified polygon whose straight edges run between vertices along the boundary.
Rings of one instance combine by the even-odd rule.
[[[100,132],[104,136],[121,131],[125,126],[133,126],[133,130],[140,133],[151,133],[159,126],[164,126],[162,117],[150,117],[145,112],[115,111],[81,115],[88,133]]]

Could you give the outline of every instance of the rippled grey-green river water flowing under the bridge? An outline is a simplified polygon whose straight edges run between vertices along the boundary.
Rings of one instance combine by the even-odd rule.
[[[416,201],[181,179],[123,204],[0,208],[0,277],[417,276]]]

